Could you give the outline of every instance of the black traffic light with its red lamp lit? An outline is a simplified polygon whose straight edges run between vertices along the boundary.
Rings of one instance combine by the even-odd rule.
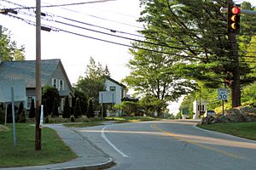
[[[240,29],[240,5],[229,5],[228,8],[228,32],[238,33]]]

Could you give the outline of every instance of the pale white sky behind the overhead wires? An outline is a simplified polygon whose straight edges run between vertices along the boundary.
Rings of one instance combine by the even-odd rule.
[[[7,3],[11,2],[11,3]],[[81,3],[93,2],[96,0],[41,0],[41,6],[66,3]],[[256,6],[255,0],[247,0]],[[241,0],[236,2],[241,3]],[[36,0],[0,0],[0,8],[17,8],[18,5],[26,7],[35,7]],[[20,10],[21,12],[32,14],[32,10]],[[67,72],[67,76],[71,83],[76,83],[80,76],[84,76],[86,65],[89,64],[90,57],[93,57],[96,62],[100,62],[103,66],[108,65],[111,77],[116,81],[121,81],[129,75],[130,71],[127,68],[129,59],[132,59],[129,54],[129,48],[119,46],[109,42],[102,42],[88,37],[96,37],[110,42],[119,42],[126,45],[131,45],[131,40],[125,40],[118,37],[107,36],[94,31],[104,31],[117,36],[139,39],[140,37],[131,36],[125,33],[138,34],[137,31],[142,30],[143,26],[137,23],[142,8],[139,6],[139,0],[110,0],[105,3],[86,3],[82,5],[73,5],[57,8],[41,8],[45,17],[48,20],[42,20],[43,25],[54,26],[65,31],[79,33],[87,37],[79,37],[63,31],[42,31],[41,32],[41,51],[42,59],[61,59],[62,64]],[[16,16],[26,20],[35,21],[32,16],[27,14],[17,14]],[[79,24],[71,20],[63,20],[61,17],[84,22],[87,25]],[[65,24],[81,26],[94,31],[81,30],[73,26],[58,24],[56,21],[61,21]],[[90,26],[88,26],[88,24]],[[18,45],[24,45],[26,48],[26,59],[36,59],[36,28],[22,20],[17,20],[3,14],[0,15],[0,25],[6,27],[12,33],[12,39],[18,42]],[[91,26],[93,25],[93,26]],[[104,27],[99,28],[95,26]],[[105,28],[122,31],[123,33],[113,33]],[[175,103],[171,109],[172,112],[177,112],[178,105],[181,99]]]

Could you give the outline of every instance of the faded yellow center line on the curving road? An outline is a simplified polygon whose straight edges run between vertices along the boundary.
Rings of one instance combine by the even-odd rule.
[[[172,138],[179,139],[179,140],[187,142],[189,144],[194,144],[196,146],[199,146],[199,147],[207,149],[207,150],[212,150],[212,151],[218,152],[220,154],[223,154],[224,156],[230,156],[230,157],[233,157],[233,158],[236,158],[236,159],[246,159],[246,157],[243,157],[243,156],[237,156],[235,154],[229,153],[229,152],[224,151],[224,150],[219,150],[219,149],[213,148],[211,146],[207,146],[207,145],[204,145],[204,144],[199,144],[199,143],[196,143],[196,142],[191,141],[189,139],[185,139],[185,137],[182,138],[182,137],[180,137],[180,135],[177,135],[175,133],[167,132],[167,131],[161,129],[160,127],[157,127],[157,124],[155,124],[155,123],[152,124],[151,127],[153,129],[156,129],[156,130],[160,131],[161,133],[165,133],[167,136],[170,136]]]

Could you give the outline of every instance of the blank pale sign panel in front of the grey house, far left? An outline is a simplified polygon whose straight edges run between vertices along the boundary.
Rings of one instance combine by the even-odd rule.
[[[25,101],[26,88],[22,80],[0,81],[0,102],[10,102],[10,88],[14,88],[15,101]]]

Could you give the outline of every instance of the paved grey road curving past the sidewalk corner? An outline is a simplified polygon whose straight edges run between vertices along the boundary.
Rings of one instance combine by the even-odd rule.
[[[255,170],[256,142],[202,130],[196,122],[162,121],[80,128],[112,156],[111,170]]]

